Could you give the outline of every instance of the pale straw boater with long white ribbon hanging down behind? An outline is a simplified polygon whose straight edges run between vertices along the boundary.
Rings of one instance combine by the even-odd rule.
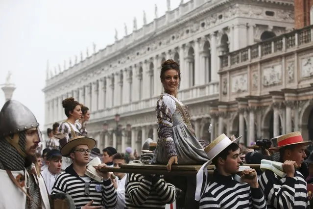
[[[196,201],[199,201],[201,198],[200,193],[201,193],[201,188],[202,188],[202,183],[203,183],[203,172],[205,174],[205,179],[207,179],[208,165],[212,163],[212,160],[214,159],[214,157],[217,157],[218,154],[220,154],[223,150],[225,150],[232,143],[237,143],[239,139],[241,139],[241,137],[242,136],[239,136],[238,138],[235,138],[232,141],[223,133],[220,136],[218,136],[216,139],[214,139],[214,141],[210,143],[209,146],[207,146],[204,149],[207,156],[209,157],[209,160],[201,166],[196,176],[197,186],[196,186],[195,198],[194,198]]]

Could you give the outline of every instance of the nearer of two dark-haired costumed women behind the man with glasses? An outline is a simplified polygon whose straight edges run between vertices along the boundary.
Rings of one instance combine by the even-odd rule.
[[[63,133],[65,138],[60,140],[61,148],[66,144],[70,138],[80,136],[80,126],[75,123],[76,120],[81,119],[82,111],[79,102],[75,101],[74,98],[70,97],[62,101],[65,115],[68,119],[62,122],[59,126],[59,132]],[[72,164],[72,160],[69,157],[63,157],[62,169],[65,170],[69,165]]]

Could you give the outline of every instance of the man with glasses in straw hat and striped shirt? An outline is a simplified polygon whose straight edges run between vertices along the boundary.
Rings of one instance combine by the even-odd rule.
[[[103,178],[100,182],[85,175],[91,149],[95,145],[96,141],[92,138],[76,136],[69,139],[61,149],[61,154],[71,157],[73,163],[56,179],[52,194],[69,194],[76,209],[100,209],[103,206],[114,208],[117,204],[116,198],[110,202],[104,201],[104,195],[113,195],[116,192],[108,173],[98,172]]]

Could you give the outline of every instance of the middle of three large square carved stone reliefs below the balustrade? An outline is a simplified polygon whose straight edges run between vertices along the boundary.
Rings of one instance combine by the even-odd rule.
[[[272,65],[263,69],[263,86],[277,85],[282,81],[282,65]]]

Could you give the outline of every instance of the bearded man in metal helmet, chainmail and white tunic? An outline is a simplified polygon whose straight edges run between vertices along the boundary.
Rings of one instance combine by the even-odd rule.
[[[33,157],[42,141],[33,113],[17,101],[0,111],[0,208],[50,209],[48,193]]]

